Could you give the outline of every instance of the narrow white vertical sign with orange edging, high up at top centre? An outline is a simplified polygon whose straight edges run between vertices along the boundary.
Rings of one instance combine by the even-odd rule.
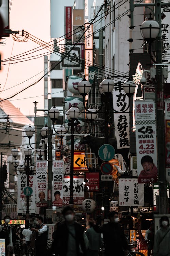
[[[85,76],[89,75],[88,67],[93,65],[93,24],[85,23]],[[88,79],[88,77],[87,77]]]

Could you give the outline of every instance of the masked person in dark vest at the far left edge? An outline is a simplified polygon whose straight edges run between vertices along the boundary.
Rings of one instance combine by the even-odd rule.
[[[4,224],[0,225],[0,238],[5,238],[5,255],[11,256],[14,247],[11,226],[8,224],[10,222],[10,216],[6,215],[3,219]]]

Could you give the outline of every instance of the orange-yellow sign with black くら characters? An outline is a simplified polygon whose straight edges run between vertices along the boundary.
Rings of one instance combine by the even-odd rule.
[[[84,151],[74,151],[74,172],[87,172]]]

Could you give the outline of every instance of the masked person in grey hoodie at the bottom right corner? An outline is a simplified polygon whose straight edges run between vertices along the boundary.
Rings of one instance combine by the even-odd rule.
[[[155,234],[154,256],[170,256],[170,227],[169,219],[166,215],[160,218],[160,228]]]

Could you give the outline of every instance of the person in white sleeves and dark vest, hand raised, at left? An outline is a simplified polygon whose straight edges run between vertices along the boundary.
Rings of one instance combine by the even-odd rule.
[[[37,228],[31,228],[32,231],[36,232],[35,240],[35,254],[36,256],[46,256],[47,255],[47,225],[43,223],[43,217],[39,216],[37,218],[36,224]]]

